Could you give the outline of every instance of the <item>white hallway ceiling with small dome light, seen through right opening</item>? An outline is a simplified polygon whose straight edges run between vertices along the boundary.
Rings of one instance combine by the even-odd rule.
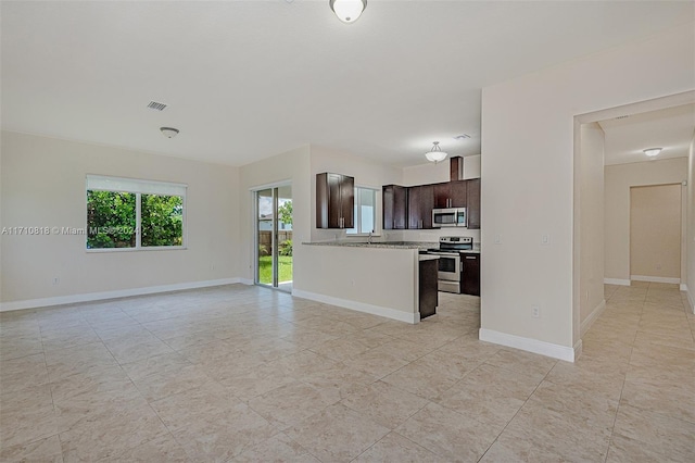
[[[605,133],[605,164],[687,158],[695,132],[695,104],[629,114],[598,123]],[[662,148],[655,158],[644,150]]]

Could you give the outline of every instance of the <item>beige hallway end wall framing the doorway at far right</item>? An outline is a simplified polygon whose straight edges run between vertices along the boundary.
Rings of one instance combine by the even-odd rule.
[[[687,178],[687,158],[607,165],[605,167],[605,278],[630,280],[630,187],[680,184]]]

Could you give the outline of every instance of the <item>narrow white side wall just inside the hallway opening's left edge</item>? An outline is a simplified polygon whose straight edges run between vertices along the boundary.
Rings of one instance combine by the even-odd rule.
[[[580,323],[585,331],[605,306],[604,300],[604,148],[597,123],[582,124],[579,195]],[[591,318],[590,318],[591,317]]]

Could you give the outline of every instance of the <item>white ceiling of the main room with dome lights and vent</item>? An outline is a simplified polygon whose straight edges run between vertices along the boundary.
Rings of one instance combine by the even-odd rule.
[[[231,165],[306,143],[399,166],[433,140],[477,154],[482,87],[695,17],[691,1],[370,0],[351,25],[328,0],[0,9],[2,128]]]

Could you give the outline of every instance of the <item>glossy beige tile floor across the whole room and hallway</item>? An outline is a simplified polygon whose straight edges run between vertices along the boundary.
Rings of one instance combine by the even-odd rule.
[[[0,314],[0,460],[692,462],[695,317],[606,287],[574,363],[241,285]]]

